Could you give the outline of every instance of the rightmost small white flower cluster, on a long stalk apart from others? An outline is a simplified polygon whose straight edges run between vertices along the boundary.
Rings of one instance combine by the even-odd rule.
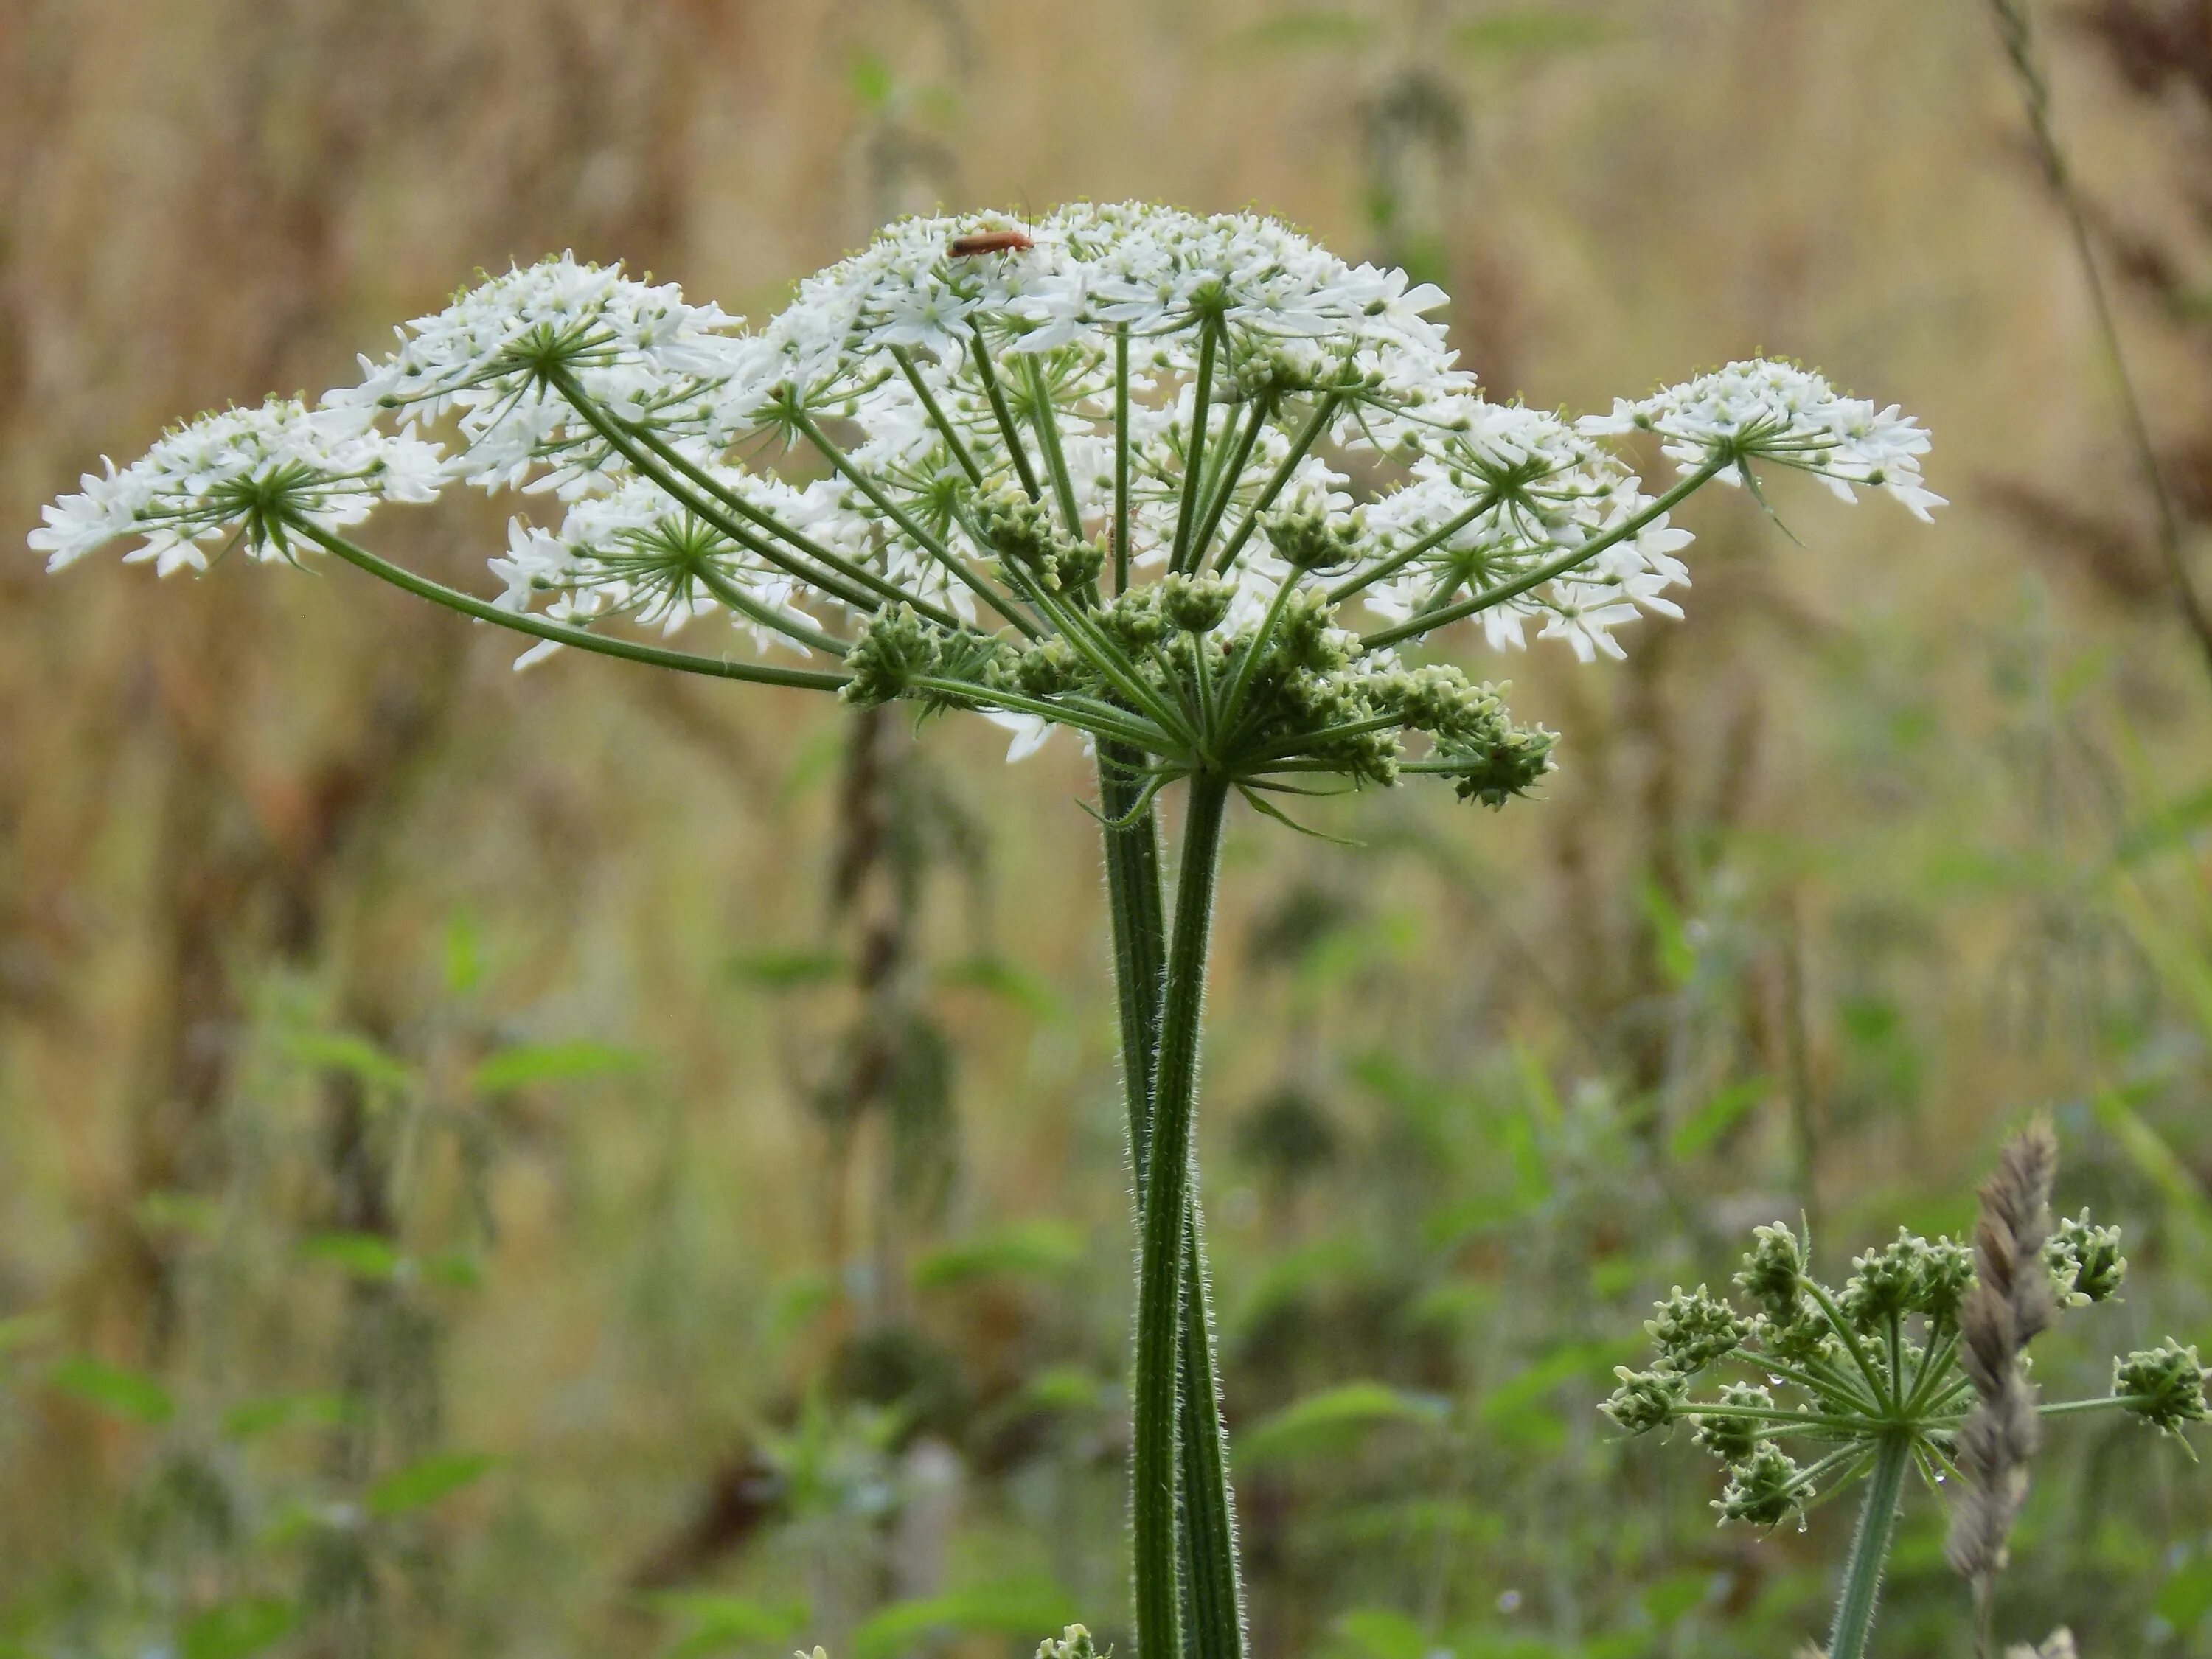
[[[1825,378],[1792,363],[1730,363],[1641,403],[1619,398],[1613,414],[1584,416],[1582,431],[1655,431],[1686,473],[1725,456],[1717,476],[1730,484],[1741,482],[1741,462],[1772,460],[1814,473],[1847,502],[1858,500],[1854,484],[1880,489],[1920,522],[1944,504],[1920,482],[1929,436],[1911,416],[1893,403],[1878,409],[1836,396]]]

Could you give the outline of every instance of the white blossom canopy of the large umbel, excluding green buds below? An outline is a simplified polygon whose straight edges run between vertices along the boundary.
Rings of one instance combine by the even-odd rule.
[[[349,526],[462,478],[564,504],[493,562],[507,611],[677,628],[721,608],[763,646],[834,650],[902,599],[945,626],[1024,626],[1026,604],[1057,628],[1060,566],[1013,568],[982,522],[1018,495],[1046,542],[1088,551],[1068,580],[1219,577],[1232,630],[1310,584],[1365,606],[1369,648],[1480,617],[1491,646],[1540,624],[1593,659],[1632,617],[1681,615],[1690,540],[1666,515],[1686,489],[1646,495],[1604,438],[1657,434],[1688,482],[1774,462],[1920,518],[1942,500],[1920,427],[1781,363],[1579,422],[1486,403],[1442,301],[1274,219],[1141,204],[907,219],[759,330],[562,254],[416,319],[316,411],[210,416],[86,478],[33,546],[60,566],[142,533],[135,557],[166,571],[217,535],[288,551],[288,522]]]

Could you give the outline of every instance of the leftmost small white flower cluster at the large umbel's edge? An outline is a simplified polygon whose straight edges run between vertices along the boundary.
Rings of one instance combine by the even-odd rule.
[[[243,542],[252,557],[290,557],[292,522],[345,529],[378,502],[427,502],[445,482],[438,445],[387,436],[354,409],[307,409],[270,398],[175,427],[122,471],[86,473],[80,493],[44,509],[31,549],[60,571],[108,542],[137,535],[124,555],[168,575],[208,568],[210,542]]]

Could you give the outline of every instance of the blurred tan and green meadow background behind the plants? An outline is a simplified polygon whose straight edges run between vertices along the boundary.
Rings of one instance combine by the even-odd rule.
[[[2037,9],[2212,535],[2212,9]],[[1259,206],[1493,396],[1750,352],[1922,531],[1710,491],[1683,624],[1484,661],[1546,799],[1232,823],[1201,1117],[1256,1652],[1792,1652],[1847,1504],[1595,1413],[1752,1223],[2130,1230],[2053,1391],[2212,1338],[2212,659],[1969,0],[0,0],[0,526],[478,268],[737,312],[925,210]],[[487,586],[507,502],[378,546]],[[2212,560],[2199,557],[2212,584]],[[0,560],[0,1652],[1124,1641],[1128,1232],[1073,743],[562,657],[343,568]],[[1473,641],[1469,641],[1473,650]],[[1966,1650],[1922,1493],[1887,1652]],[[2212,1484],[2051,1436],[2000,1630],[2212,1652]]]

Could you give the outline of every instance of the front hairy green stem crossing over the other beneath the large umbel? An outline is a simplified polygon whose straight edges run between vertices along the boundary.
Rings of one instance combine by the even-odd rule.
[[[1183,863],[1175,880],[1175,938],[1161,978],[1159,1064],[1146,1148],[1144,1245],[1137,1265],[1137,1376],[1130,1511],[1137,1555],[1137,1652],[1181,1655],[1175,1546],[1177,1338],[1183,1325],[1183,1243],[1190,1232],[1190,1148],[1199,1084],[1199,1015],[1214,914],[1214,874],[1230,785],[1217,772],[1190,779]],[[1225,1540],[1223,1540],[1225,1542]],[[1225,1564],[1234,1575],[1234,1564]]]

